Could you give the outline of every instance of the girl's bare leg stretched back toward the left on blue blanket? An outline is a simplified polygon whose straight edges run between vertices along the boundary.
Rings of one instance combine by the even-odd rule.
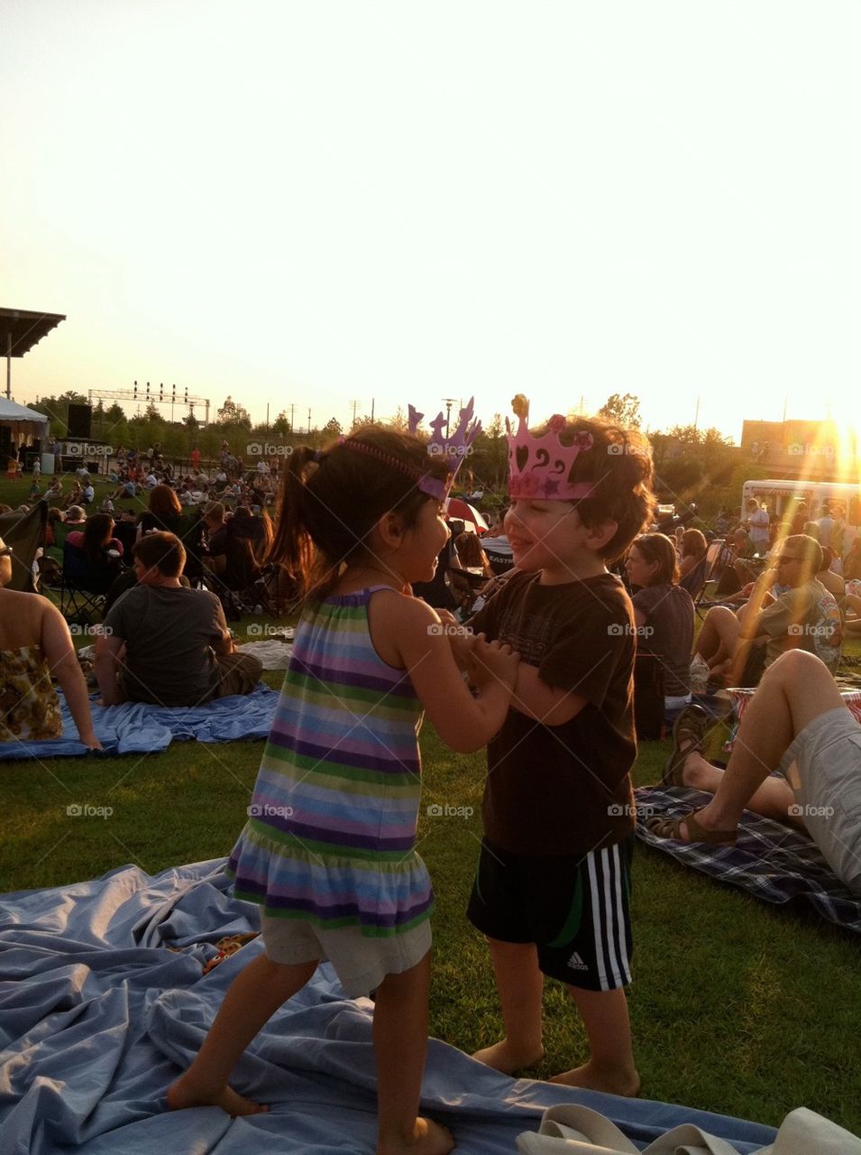
[[[167,1090],[172,1110],[220,1106],[230,1115],[267,1110],[238,1095],[227,1079],[239,1057],[275,1012],[308,982],[316,962],[287,967],[257,955],[233,979],[192,1066]]]

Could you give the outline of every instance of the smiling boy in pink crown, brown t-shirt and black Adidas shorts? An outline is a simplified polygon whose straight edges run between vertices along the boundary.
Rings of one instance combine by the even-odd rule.
[[[542,1055],[544,975],[566,983],[587,1063],[556,1082],[636,1095],[624,986],[636,757],[630,599],[607,572],[650,520],[647,442],[553,417],[509,432],[506,531],[515,573],[470,625],[521,654],[511,708],[488,746],[469,917],[488,938],[506,1037],[476,1058],[510,1074]]]

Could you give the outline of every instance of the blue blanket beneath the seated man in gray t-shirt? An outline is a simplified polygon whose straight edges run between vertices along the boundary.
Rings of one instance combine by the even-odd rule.
[[[50,742],[5,742],[0,760],[13,758],[72,758],[88,753],[77,738],[66,699],[60,692],[62,737]],[[234,742],[267,738],[272,728],[278,691],[262,681],[250,694],[218,698],[202,706],[96,706],[92,724],[106,754],[145,754],[166,750],[174,740]]]

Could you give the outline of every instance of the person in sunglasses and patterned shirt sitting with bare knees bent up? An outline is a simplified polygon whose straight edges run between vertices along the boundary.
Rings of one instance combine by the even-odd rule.
[[[755,684],[756,657],[765,669],[788,649],[816,654],[833,672],[840,661],[843,628],[834,597],[816,580],[821,569],[819,543],[794,534],[776,547],[771,567],[757,578],[738,614],[725,606],[709,610],[694,653],[709,664],[712,677],[726,685]],[[748,677],[743,678],[746,666]]]

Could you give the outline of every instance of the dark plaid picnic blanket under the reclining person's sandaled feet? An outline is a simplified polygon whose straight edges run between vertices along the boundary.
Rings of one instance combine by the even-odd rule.
[[[847,891],[803,830],[744,811],[734,847],[656,839],[645,827],[650,818],[680,818],[702,810],[711,795],[688,787],[639,787],[635,790],[637,837],[656,850],[741,886],[763,902],[808,902],[838,926],[861,933],[861,895]]]

